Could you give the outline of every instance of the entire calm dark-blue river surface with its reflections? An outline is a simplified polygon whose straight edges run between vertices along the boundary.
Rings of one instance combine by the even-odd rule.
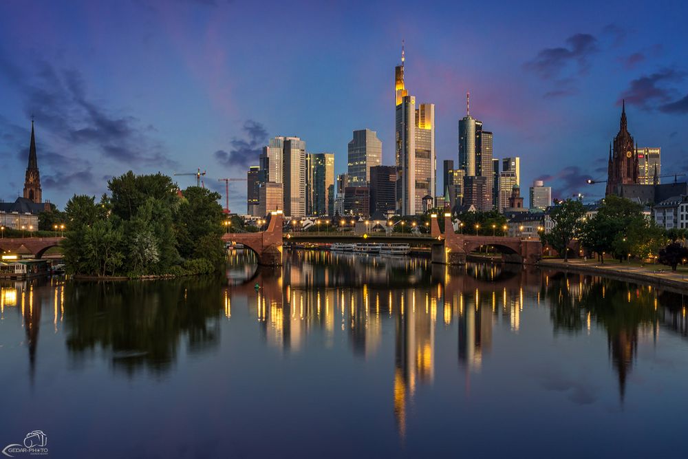
[[[69,458],[685,457],[676,293],[321,252],[1,286],[0,448],[40,429]]]

